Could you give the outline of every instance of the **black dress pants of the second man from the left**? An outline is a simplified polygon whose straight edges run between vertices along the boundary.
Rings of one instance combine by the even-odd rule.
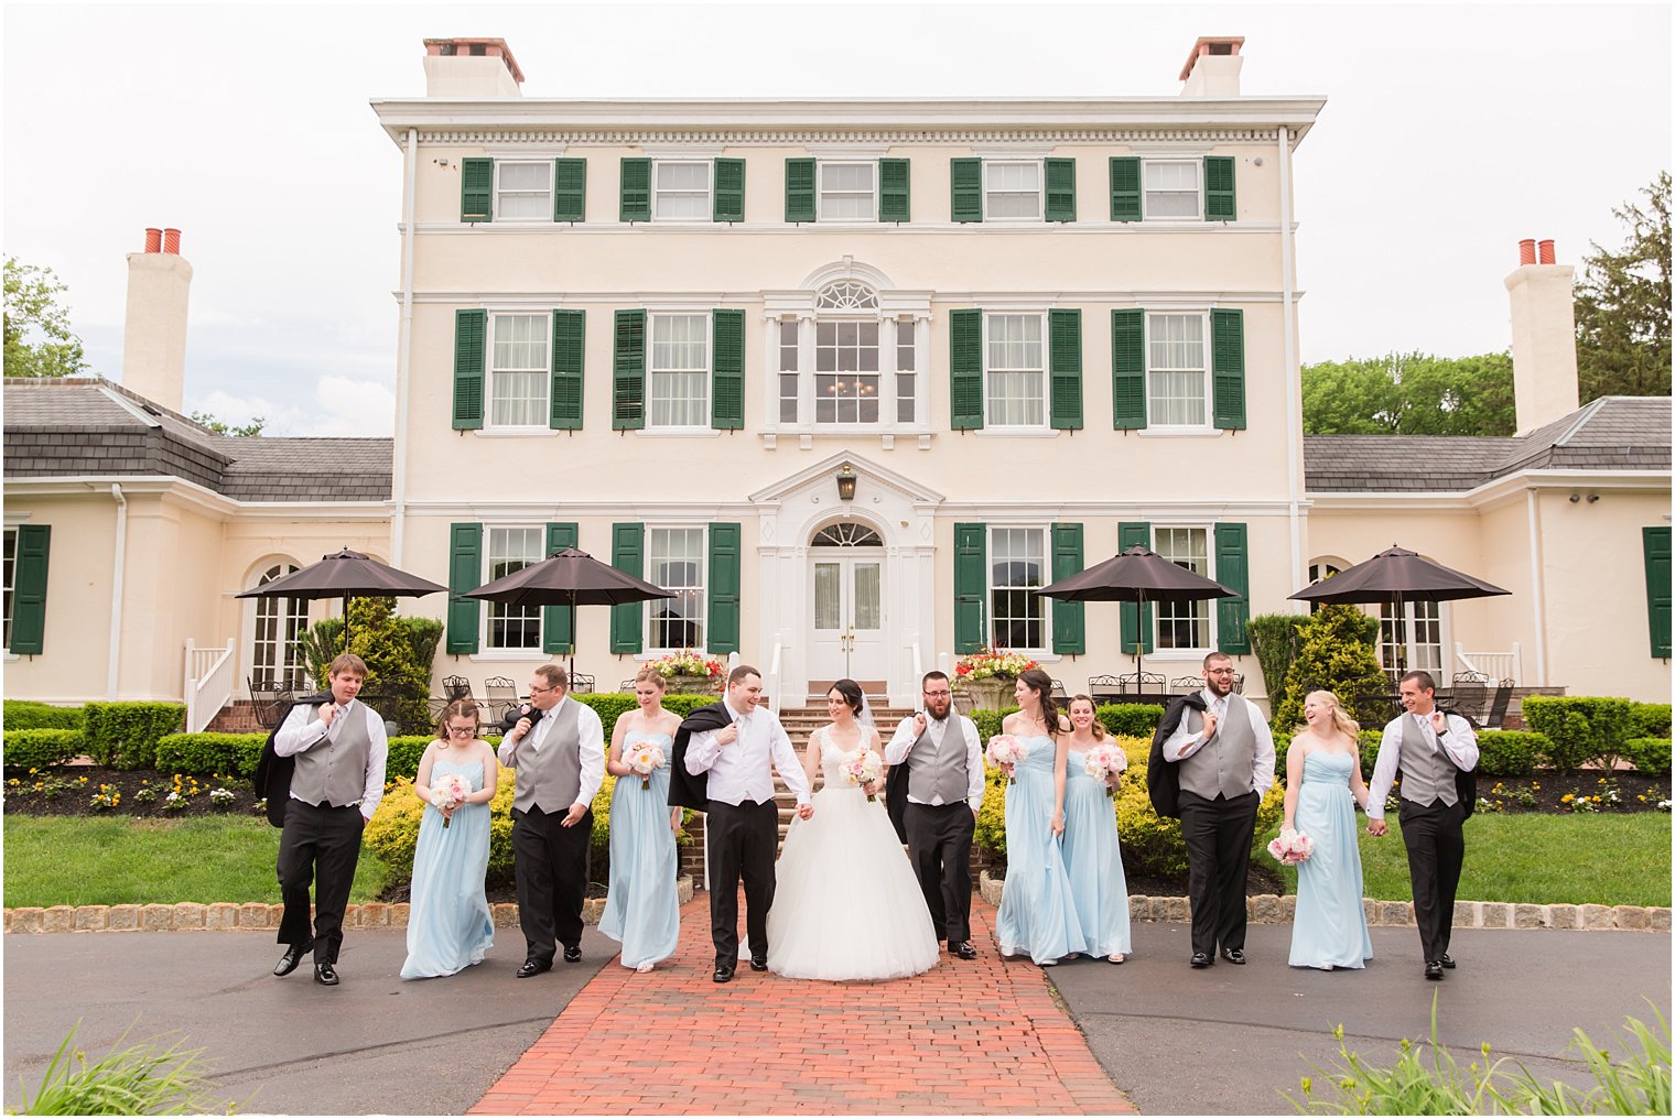
[[[581,943],[581,903],[588,896],[588,844],[593,809],[570,828],[563,812],[513,809],[513,874],[518,879],[518,925],[524,958],[551,963],[558,945]]]

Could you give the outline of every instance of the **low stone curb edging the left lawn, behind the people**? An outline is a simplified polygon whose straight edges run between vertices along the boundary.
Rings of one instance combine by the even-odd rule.
[[[692,876],[682,874],[675,883],[680,905],[692,901]],[[494,928],[518,925],[516,903],[491,905]],[[605,911],[605,898],[588,898],[581,906],[581,920],[598,925]],[[405,901],[367,901],[352,905],[343,913],[343,928],[407,928],[410,906]],[[285,915],[283,905],[265,901],[181,901],[178,905],[55,905],[50,908],[20,906],[5,911],[7,933],[169,933],[169,931],[238,931],[278,928]]]

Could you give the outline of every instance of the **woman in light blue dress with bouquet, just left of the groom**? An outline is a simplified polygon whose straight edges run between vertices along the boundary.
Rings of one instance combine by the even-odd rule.
[[[616,720],[605,762],[616,776],[616,789],[611,791],[611,881],[600,931],[621,943],[623,967],[640,973],[675,955],[680,941],[675,896],[680,809],[668,806],[668,759],[680,715],[663,710],[663,677],[652,668],[633,678],[640,707]],[[642,744],[663,752],[650,782],[626,761]]]

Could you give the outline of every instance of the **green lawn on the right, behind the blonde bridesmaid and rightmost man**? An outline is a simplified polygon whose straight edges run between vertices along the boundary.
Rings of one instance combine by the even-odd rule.
[[[1412,901],[1407,848],[1397,814],[1390,834],[1374,839],[1362,821],[1365,895]],[[1271,863],[1270,863],[1271,864]],[[1296,871],[1283,869],[1296,891]],[[1625,816],[1538,812],[1476,814],[1466,821],[1466,866],[1459,898],[1528,905],[1670,903],[1670,814]]]

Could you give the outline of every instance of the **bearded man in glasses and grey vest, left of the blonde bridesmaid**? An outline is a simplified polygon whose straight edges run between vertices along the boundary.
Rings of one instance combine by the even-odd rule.
[[[1256,806],[1273,787],[1273,734],[1256,705],[1233,694],[1233,658],[1204,657],[1204,709],[1188,705],[1162,744],[1179,762],[1181,838],[1193,903],[1193,967],[1245,963],[1245,883]]]

